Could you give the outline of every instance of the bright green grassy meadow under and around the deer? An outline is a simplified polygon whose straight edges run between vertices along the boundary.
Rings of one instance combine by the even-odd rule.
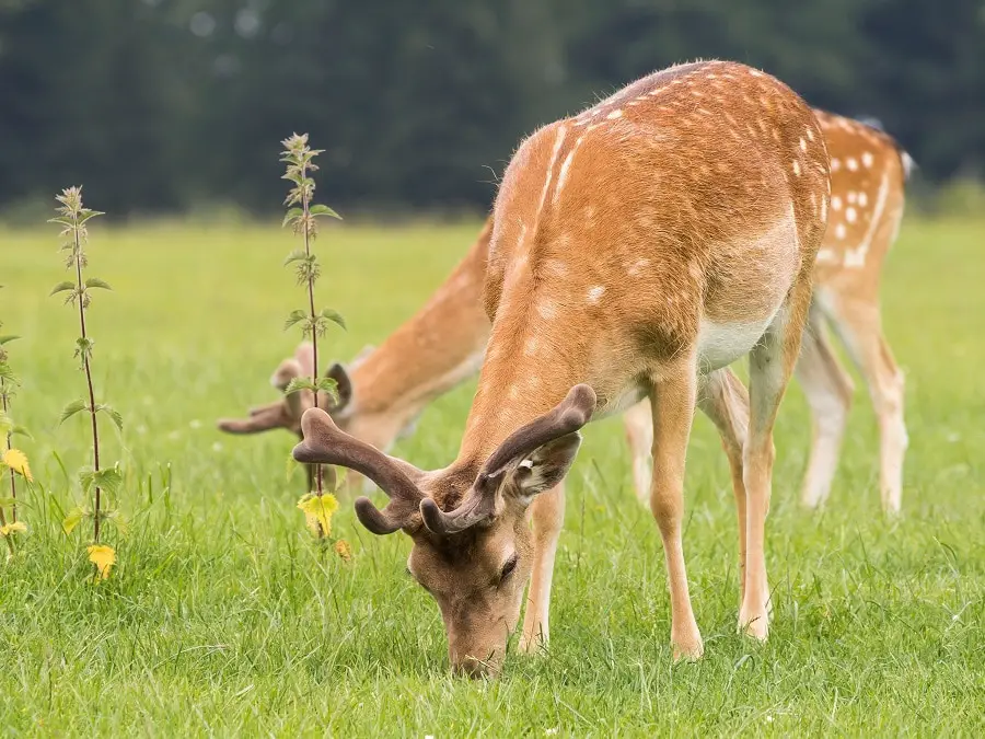
[[[478,224],[347,227],[318,242],[321,302],[349,359],[410,315]],[[4,736],[982,736],[985,730],[985,223],[904,224],[885,322],[907,374],[905,515],[879,510],[876,428],[856,394],[835,490],[798,506],[809,425],[798,389],[777,435],[767,561],[768,644],[735,635],[735,521],[717,437],[696,422],[685,551],[706,657],[671,663],[660,539],[630,489],[621,425],[590,427],[569,475],[552,643],[511,655],[496,682],[447,674],[430,598],[404,573],[408,541],[362,530],[347,500],[349,564],[322,556],[294,507],[285,432],[232,438],[215,419],[275,400],[267,384],[303,304],[270,228],[99,230],[90,312],[99,395],[124,415],[104,457],[126,470],[130,535],[93,587],[84,542],[59,509],[86,463],[76,320],[54,229],[0,232],[0,317],[25,379],[18,416],[44,492],[25,494],[23,553],[0,563]],[[396,453],[440,466],[457,448],[473,385],[436,403]],[[57,457],[56,457],[57,453]],[[59,462],[59,459],[61,462]],[[68,470],[68,473],[66,473]]]

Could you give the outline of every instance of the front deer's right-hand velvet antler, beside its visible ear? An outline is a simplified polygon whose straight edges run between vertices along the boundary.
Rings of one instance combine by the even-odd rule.
[[[575,434],[591,420],[595,391],[587,384],[571,388],[553,411],[513,431],[486,460],[465,498],[451,511],[443,511],[430,498],[420,501],[425,526],[439,535],[460,533],[493,516],[499,478],[510,464],[523,460],[546,443]]]

